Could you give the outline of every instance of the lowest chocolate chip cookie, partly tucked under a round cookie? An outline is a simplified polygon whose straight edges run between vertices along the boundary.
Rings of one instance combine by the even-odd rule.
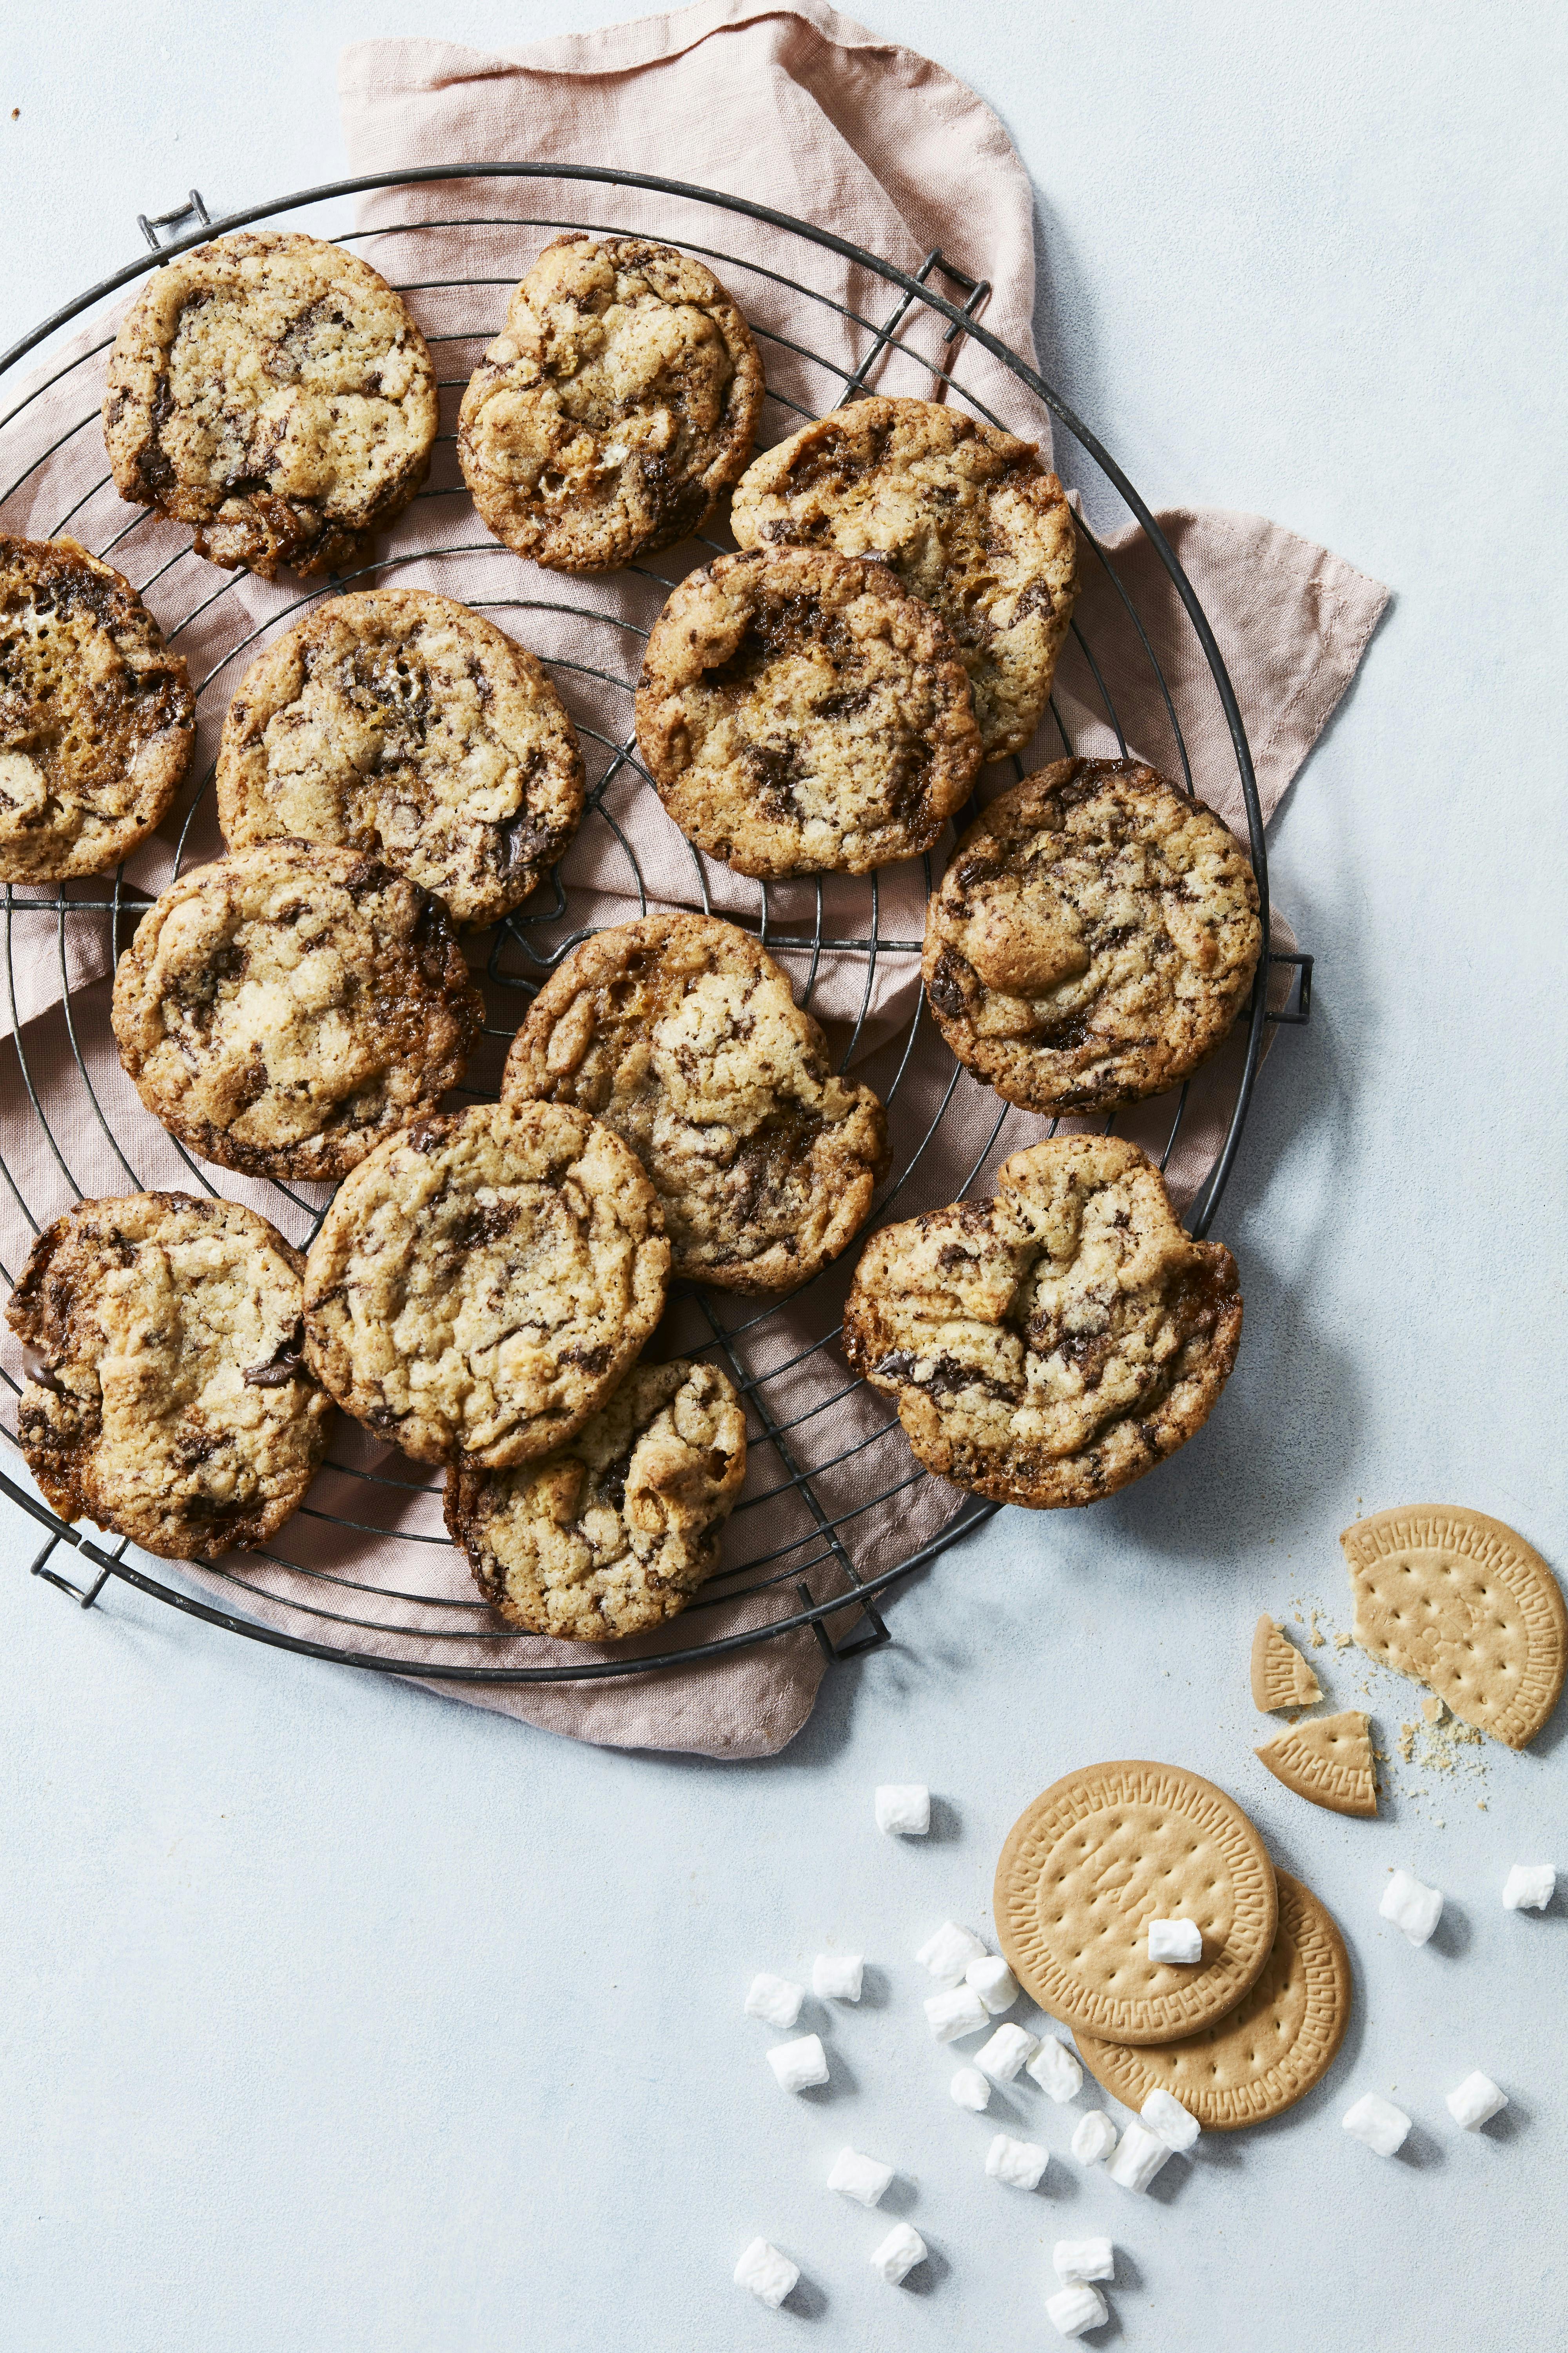
[[[677,1617],[719,1565],[745,1414],[717,1365],[632,1365],[543,1461],[447,1473],[447,1529],[524,1633],[616,1642]]]

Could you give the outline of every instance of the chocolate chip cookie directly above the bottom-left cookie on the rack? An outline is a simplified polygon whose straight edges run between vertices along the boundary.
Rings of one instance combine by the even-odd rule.
[[[346,1176],[456,1087],[484,998],[435,899],[353,849],[259,842],[172,882],[120,958],[120,1061],[249,1176]]]

